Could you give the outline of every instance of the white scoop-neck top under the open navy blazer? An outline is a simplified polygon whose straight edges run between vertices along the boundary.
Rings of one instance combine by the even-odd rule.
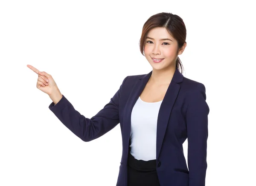
[[[163,101],[163,100],[162,100]],[[157,116],[162,101],[149,103],[139,99],[131,112],[131,155],[137,160],[155,160]]]

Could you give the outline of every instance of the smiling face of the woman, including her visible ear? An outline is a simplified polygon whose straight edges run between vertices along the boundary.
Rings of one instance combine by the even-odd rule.
[[[177,56],[182,54],[186,42],[182,48],[178,48],[174,39],[166,28],[153,28],[148,32],[145,40],[144,54],[154,70],[174,68]]]

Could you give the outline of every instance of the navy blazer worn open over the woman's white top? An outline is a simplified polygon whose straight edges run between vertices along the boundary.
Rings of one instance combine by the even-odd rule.
[[[127,186],[131,111],[151,73],[127,76],[110,102],[92,118],[76,111],[62,95],[49,109],[83,141],[99,138],[120,123],[122,158],[116,186]],[[205,186],[208,113],[205,86],[175,70],[157,119],[156,170],[160,186]],[[188,167],[183,142],[188,138]],[[189,169],[188,169],[189,168]]]

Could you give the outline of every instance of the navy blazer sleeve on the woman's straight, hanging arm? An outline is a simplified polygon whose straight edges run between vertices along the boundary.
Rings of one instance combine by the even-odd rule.
[[[186,111],[189,186],[205,186],[209,107],[205,86],[199,83],[188,95]]]

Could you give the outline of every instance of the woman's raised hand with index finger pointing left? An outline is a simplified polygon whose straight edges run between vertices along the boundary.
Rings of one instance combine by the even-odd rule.
[[[31,65],[28,68],[38,74],[38,81],[36,87],[51,96],[55,92],[60,92],[52,76],[46,72],[40,72],[38,69]]]

